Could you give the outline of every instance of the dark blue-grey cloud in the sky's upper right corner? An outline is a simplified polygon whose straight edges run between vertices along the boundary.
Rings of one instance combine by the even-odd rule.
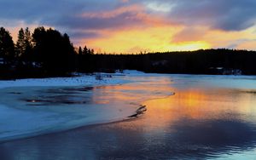
[[[255,0],[160,0],[171,3],[169,20],[186,25],[204,25],[224,31],[241,31],[254,25]]]

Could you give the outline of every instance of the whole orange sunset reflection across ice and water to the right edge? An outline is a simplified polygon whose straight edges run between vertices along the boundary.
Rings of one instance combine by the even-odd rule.
[[[165,94],[157,92],[176,94],[165,97]],[[253,107],[256,95],[235,89],[178,89],[172,88],[172,83],[163,81],[160,85],[139,83],[108,86],[93,94],[92,99],[96,103],[134,108],[140,104],[147,106],[148,111],[142,117],[132,123],[122,123],[119,127],[123,129],[165,130],[183,119],[202,122],[210,119],[256,119],[256,107]]]

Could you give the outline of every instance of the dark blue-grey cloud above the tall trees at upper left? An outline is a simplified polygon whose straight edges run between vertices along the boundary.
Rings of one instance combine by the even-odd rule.
[[[1,0],[0,26],[17,26],[17,21],[23,21],[28,25],[53,26],[67,31],[73,38],[80,38],[82,35],[98,37],[95,32],[86,30],[124,26],[122,16],[100,19],[82,18],[79,15],[109,11],[122,5],[119,0]]]

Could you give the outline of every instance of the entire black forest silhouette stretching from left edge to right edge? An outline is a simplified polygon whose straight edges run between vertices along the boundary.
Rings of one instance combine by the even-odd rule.
[[[73,71],[113,72],[131,69],[158,73],[223,74],[239,70],[256,75],[256,52],[206,49],[148,54],[94,54],[86,46],[76,51],[68,35],[36,28],[21,28],[14,43],[0,28],[0,78],[68,76]],[[220,69],[222,69],[220,71]]]

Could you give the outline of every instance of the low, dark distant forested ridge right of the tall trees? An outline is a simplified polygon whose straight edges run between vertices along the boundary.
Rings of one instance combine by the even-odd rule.
[[[256,75],[256,52],[232,49],[206,49],[130,55],[95,55],[97,69],[131,69],[157,73],[229,74],[241,71]],[[221,70],[220,70],[221,68]]]

